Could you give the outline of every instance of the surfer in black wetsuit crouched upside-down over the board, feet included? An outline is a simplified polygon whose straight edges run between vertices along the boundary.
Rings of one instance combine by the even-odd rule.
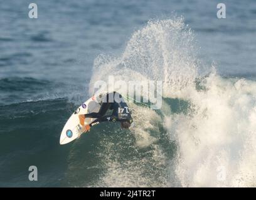
[[[105,115],[112,110],[111,115]],[[85,126],[85,118],[97,118],[92,124]],[[104,121],[119,121],[122,129],[129,129],[132,123],[132,116],[122,95],[117,92],[107,93],[100,106],[99,113],[88,113],[79,115],[83,131],[90,131],[90,128]]]

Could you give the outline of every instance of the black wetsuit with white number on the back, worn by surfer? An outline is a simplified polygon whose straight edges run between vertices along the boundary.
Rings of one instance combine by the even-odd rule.
[[[117,99],[114,98],[117,96]],[[120,102],[116,100],[120,100]],[[108,109],[113,110],[113,112],[111,115],[105,116]],[[90,126],[94,126],[103,121],[128,121],[129,123],[132,123],[132,116],[129,108],[121,94],[117,92],[107,93],[102,105],[100,106],[99,113],[85,114],[85,118],[97,118],[92,124],[90,124]]]

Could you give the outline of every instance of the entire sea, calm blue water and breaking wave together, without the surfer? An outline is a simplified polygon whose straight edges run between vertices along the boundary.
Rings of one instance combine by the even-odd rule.
[[[255,187],[256,3],[221,2],[1,2],[0,186]],[[163,81],[162,108],[60,145],[109,76]]]

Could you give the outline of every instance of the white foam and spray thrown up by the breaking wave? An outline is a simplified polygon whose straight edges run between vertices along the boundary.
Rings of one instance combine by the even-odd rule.
[[[255,186],[256,83],[221,78],[214,66],[202,66],[195,43],[182,18],[149,21],[134,32],[120,56],[95,59],[97,73],[90,82],[91,92],[95,81],[114,76],[122,81],[163,80],[165,98],[161,114],[137,108],[141,118],[135,119],[137,128],[132,132],[139,148],[150,146],[157,156],[136,164],[109,159],[120,153],[105,141],[109,150],[102,159],[108,170],[98,186]],[[144,129],[156,128],[152,121],[142,123],[146,115],[154,119],[161,116],[161,136],[154,137],[157,130]],[[156,145],[159,141],[161,145]],[[162,161],[164,168],[162,165],[144,174],[146,166]],[[224,171],[224,179],[219,178],[223,173],[219,169]],[[156,172],[163,173],[159,181],[155,181]]]

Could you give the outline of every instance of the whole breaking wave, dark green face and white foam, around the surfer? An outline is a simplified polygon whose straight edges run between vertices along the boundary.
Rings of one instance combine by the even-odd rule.
[[[1,166],[9,170],[3,180],[12,185],[17,179],[13,166],[25,169],[31,163],[45,174],[40,186],[255,186],[256,82],[224,78],[214,66],[202,66],[195,43],[182,18],[152,20],[132,34],[124,53],[98,56],[90,94],[96,81],[109,76],[162,80],[162,107],[129,103],[131,131],[102,123],[65,146],[58,145],[61,129],[85,101],[82,89],[31,78],[1,79],[1,92],[17,98],[42,91],[0,106]],[[56,169],[60,183],[50,177]],[[22,170],[19,184],[28,182]]]

